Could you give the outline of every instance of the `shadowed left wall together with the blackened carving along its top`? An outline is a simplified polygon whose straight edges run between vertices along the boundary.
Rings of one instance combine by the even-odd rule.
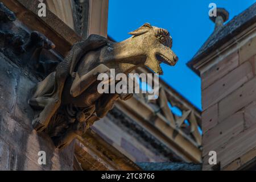
[[[48,135],[31,127],[34,110],[27,100],[60,62],[53,48],[46,36],[28,30],[0,3],[0,170],[73,169],[73,144],[59,151]],[[39,151],[46,152],[46,164],[38,163]]]

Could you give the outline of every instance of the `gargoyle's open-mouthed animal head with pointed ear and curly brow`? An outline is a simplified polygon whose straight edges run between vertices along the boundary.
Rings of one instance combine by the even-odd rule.
[[[172,38],[167,30],[144,23],[129,34],[133,35],[130,39],[137,39],[138,48],[147,56],[144,65],[155,73],[163,73],[162,62],[172,66],[177,63],[178,57],[171,50]]]

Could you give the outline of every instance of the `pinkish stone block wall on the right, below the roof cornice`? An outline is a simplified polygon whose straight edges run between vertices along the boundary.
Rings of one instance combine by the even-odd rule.
[[[241,169],[255,159],[255,47],[254,36],[201,74],[204,170],[212,169],[209,151],[217,152],[221,170]]]

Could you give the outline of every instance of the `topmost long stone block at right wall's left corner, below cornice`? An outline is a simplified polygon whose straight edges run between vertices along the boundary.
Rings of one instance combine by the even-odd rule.
[[[221,59],[219,63],[217,63],[201,75],[202,90],[213,84],[213,82],[217,81],[218,79],[224,77],[226,74],[228,74],[239,65],[237,51],[231,53],[225,58],[223,58],[223,56],[218,57],[218,59]]]

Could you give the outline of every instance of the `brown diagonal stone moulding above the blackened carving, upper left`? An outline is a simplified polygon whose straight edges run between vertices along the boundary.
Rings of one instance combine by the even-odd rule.
[[[46,11],[46,17],[36,16],[38,13],[38,1],[2,0],[2,2],[6,7],[14,11],[17,19],[22,21],[28,28],[47,35],[56,44],[56,50],[63,56],[67,54],[73,44],[82,40],[80,36],[76,35],[75,31],[51,11]]]

